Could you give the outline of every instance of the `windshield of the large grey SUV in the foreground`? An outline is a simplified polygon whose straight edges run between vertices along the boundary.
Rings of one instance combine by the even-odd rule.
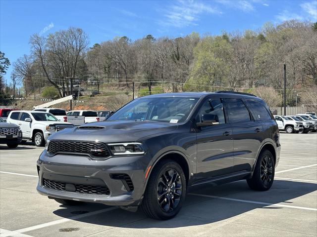
[[[122,107],[107,120],[153,120],[183,122],[199,98],[144,97]]]

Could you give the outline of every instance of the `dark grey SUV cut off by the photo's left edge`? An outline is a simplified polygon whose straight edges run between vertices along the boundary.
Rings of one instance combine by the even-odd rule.
[[[18,125],[5,122],[0,118],[0,144],[15,148],[22,140],[22,132]]]

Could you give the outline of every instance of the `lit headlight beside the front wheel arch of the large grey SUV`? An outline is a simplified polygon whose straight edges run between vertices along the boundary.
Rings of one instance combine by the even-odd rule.
[[[143,155],[145,150],[141,143],[127,142],[127,143],[109,143],[107,144],[113,155]]]

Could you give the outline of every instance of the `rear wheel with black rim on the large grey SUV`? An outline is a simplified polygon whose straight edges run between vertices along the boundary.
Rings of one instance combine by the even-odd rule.
[[[274,173],[275,162],[273,155],[268,150],[265,150],[259,155],[253,176],[247,179],[247,183],[253,190],[269,190],[274,181]]]

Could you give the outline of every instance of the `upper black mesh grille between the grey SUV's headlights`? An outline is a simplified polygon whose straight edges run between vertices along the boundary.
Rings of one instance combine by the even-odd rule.
[[[70,154],[89,155],[91,158],[101,159],[110,157],[105,144],[100,142],[52,140],[49,143],[48,152],[50,155]]]

